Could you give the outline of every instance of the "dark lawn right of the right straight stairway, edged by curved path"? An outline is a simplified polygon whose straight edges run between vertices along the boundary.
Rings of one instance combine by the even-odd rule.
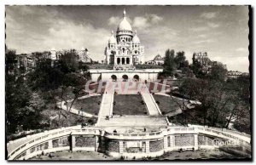
[[[182,100],[172,99],[172,97],[167,97],[164,95],[153,94],[155,102],[159,101],[159,108],[163,115],[167,113],[177,114],[179,110],[179,105],[183,104]],[[177,104],[178,102],[178,104]],[[169,114],[169,115],[171,115]]]

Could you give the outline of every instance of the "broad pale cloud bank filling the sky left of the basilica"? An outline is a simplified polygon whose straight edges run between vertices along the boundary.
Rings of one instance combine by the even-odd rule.
[[[39,21],[40,23],[37,23]],[[104,48],[108,43],[110,31],[96,28],[89,22],[74,23],[70,20],[55,19],[49,15],[37,18],[38,31],[32,31],[26,24],[17,21],[10,14],[6,18],[8,48],[15,48],[17,53],[45,51],[50,48],[69,49],[88,48],[94,60],[104,59]],[[27,22],[27,21],[24,21]]]

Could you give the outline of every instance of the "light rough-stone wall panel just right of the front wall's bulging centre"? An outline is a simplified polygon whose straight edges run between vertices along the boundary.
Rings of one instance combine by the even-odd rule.
[[[175,146],[195,145],[194,135],[175,135]]]

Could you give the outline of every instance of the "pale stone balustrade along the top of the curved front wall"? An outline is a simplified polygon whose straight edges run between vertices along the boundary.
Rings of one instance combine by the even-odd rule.
[[[39,134],[33,134],[33,135],[27,135],[24,138],[16,139],[14,141],[10,141],[7,146],[10,147],[10,145],[17,145],[15,148],[9,152],[8,156],[14,156],[16,152],[18,154],[15,154],[15,156],[18,156],[20,153],[22,153],[24,150],[26,150],[27,147],[31,147],[33,145],[37,145],[38,143],[41,143],[42,141],[53,139],[58,137],[60,134],[95,134],[100,135],[101,133],[104,136],[107,136],[108,138],[159,138],[163,137],[167,134],[209,134],[212,136],[216,136],[218,138],[224,138],[224,139],[236,139],[239,140],[239,142],[242,145],[245,145],[247,147],[251,146],[251,139],[247,136],[244,136],[244,134],[241,134],[237,132],[235,134],[235,131],[227,131],[226,129],[220,129],[220,128],[205,128],[203,126],[197,126],[197,125],[189,125],[189,127],[168,127],[163,130],[157,131],[157,132],[148,132],[148,133],[109,133],[107,131],[104,131],[102,128],[81,128],[81,126],[73,126],[68,128],[57,128],[49,131],[44,131],[44,133]],[[21,143],[21,141],[24,140],[24,143]],[[19,144],[20,143],[20,144]],[[23,150],[22,150],[23,149]]]

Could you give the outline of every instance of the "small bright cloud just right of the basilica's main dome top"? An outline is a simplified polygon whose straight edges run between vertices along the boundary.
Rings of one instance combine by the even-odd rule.
[[[157,14],[146,14],[143,17],[135,17],[132,26],[137,29],[145,29],[150,26],[155,26],[161,20],[163,20],[163,18]]]

